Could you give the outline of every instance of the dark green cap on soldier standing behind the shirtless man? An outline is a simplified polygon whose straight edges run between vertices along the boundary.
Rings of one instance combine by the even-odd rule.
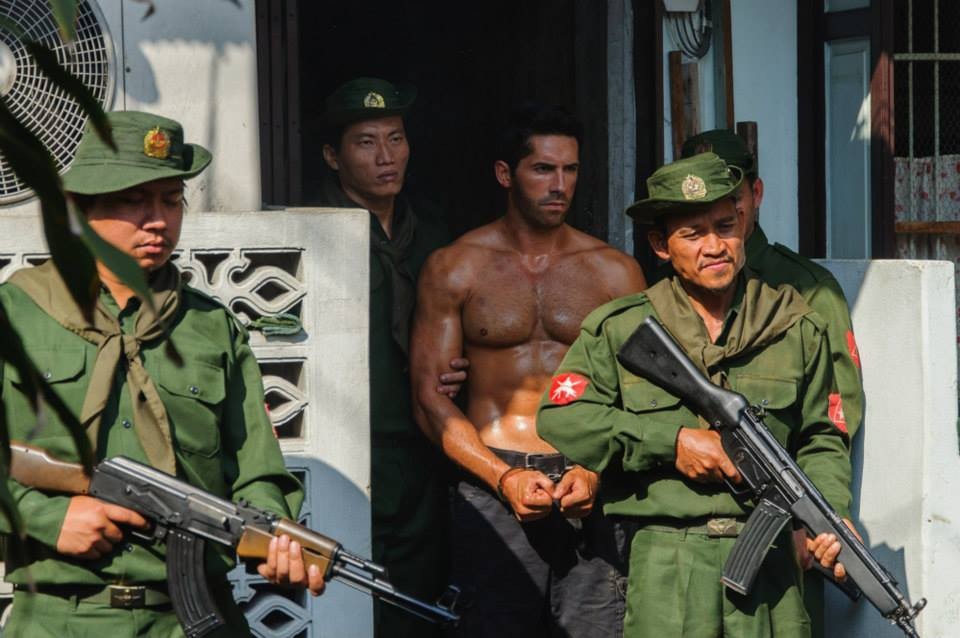
[[[391,84],[379,78],[356,78],[341,84],[327,97],[324,123],[351,124],[390,115],[403,115],[417,97],[412,84]]]

